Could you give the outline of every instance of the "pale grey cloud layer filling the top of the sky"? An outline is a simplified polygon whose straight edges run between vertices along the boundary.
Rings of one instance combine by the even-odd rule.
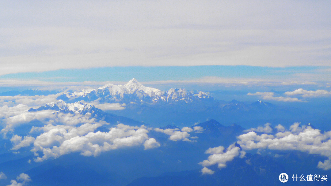
[[[3,1],[0,75],[114,66],[330,66],[330,5]]]

